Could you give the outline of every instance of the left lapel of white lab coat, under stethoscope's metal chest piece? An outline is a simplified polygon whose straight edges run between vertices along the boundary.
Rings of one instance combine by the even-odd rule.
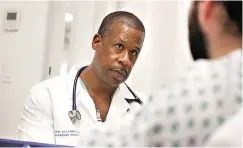
[[[73,84],[75,76],[78,72],[78,70],[81,68],[81,66],[74,66],[71,68],[70,72],[68,73],[68,91],[70,94],[70,99],[72,100],[72,94],[73,94]],[[76,104],[77,109],[81,110],[81,105],[84,106],[83,109],[87,110],[87,112],[90,114],[92,119],[96,121],[96,109],[93,100],[89,96],[89,94],[82,88],[80,84],[80,79],[78,79],[77,86],[76,86]],[[70,106],[71,108],[72,106]],[[82,116],[82,112],[81,112]],[[82,119],[81,119],[82,120]]]

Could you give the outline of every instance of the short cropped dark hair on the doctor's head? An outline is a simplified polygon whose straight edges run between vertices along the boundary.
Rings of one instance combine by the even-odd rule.
[[[116,11],[108,14],[102,21],[98,34],[100,36],[104,36],[108,33],[110,29],[115,24],[124,24],[131,28],[137,29],[139,31],[142,31],[145,33],[145,28],[143,26],[143,23],[140,21],[140,19],[135,16],[134,14],[126,11]]]

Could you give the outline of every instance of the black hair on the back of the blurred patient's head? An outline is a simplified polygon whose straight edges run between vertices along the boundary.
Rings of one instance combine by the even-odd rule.
[[[237,24],[238,31],[242,33],[242,1],[222,1],[229,19]]]

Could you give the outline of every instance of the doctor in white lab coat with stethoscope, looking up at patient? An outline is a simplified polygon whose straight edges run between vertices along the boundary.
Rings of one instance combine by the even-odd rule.
[[[92,41],[90,65],[71,68],[32,87],[18,126],[20,140],[75,146],[82,129],[125,119],[143,97],[124,81],[141,51],[142,22],[132,13],[107,15]],[[121,122],[124,122],[122,120]]]

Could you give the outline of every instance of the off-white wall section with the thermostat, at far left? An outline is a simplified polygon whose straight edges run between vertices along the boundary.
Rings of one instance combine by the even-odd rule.
[[[3,12],[21,8],[18,32],[3,31]],[[27,90],[46,72],[49,2],[0,1],[0,138],[16,138],[16,128]],[[3,83],[3,75],[11,83]]]

